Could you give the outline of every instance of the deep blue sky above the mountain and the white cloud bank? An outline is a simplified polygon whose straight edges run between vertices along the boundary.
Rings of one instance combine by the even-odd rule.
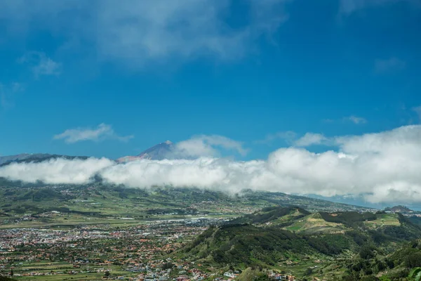
[[[218,135],[265,159],[288,131],[420,122],[420,1],[37,4],[0,4],[0,155],[116,158]]]

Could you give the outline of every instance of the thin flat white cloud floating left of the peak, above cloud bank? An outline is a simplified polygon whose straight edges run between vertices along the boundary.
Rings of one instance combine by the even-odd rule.
[[[128,141],[133,138],[133,136],[119,136],[114,132],[111,125],[102,123],[95,129],[67,129],[63,133],[55,135],[53,138],[55,140],[64,139],[66,143],[76,143],[78,141],[103,141],[105,139]]]

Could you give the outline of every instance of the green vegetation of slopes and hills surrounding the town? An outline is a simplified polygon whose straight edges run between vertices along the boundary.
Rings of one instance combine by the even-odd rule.
[[[267,280],[265,269],[292,273],[299,280],[416,280],[421,271],[420,220],[351,209],[355,207],[248,190],[228,196],[194,188],[142,190],[99,182],[52,188],[0,181],[0,229],[98,223],[128,228],[162,218],[222,216],[233,219],[195,234],[168,255],[173,261],[194,261],[222,272],[243,270],[239,280]],[[97,249],[104,241],[90,243]],[[61,251],[51,250],[58,255],[52,263],[60,261]],[[174,264],[166,262],[162,268],[177,270]]]

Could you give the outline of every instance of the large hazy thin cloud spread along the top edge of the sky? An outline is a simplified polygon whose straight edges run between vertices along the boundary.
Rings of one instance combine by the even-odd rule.
[[[102,60],[137,66],[168,57],[239,58],[287,20],[286,2],[248,0],[247,22],[238,26],[226,20],[232,0],[44,0],[36,6],[30,0],[4,0],[0,18],[8,20],[13,36],[41,27],[65,36],[67,44],[94,46]]]

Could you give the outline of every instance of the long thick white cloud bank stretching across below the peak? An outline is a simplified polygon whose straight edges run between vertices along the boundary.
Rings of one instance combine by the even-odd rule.
[[[133,188],[173,185],[227,192],[250,188],[301,195],[363,195],[370,202],[421,202],[421,125],[329,140],[338,151],[281,148],[266,160],[243,162],[215,157],[125,164],[62,159],[4,166],[0,176],[46,183],[70,183],[77,178],[77,183],[88,183],[96,173],[107,183]]]

